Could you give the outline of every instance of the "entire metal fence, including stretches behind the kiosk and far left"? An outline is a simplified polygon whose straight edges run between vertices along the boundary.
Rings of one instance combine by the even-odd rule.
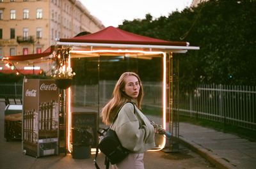
[[[95,107],[111,98],[116,81],[99,85],[73,85],[72,102]],[[143,82],[143,105],[162,107],[162,83]],[[100,94],[100,95],[99,95]],[[0,84],[0,98],[22,98],[22,84]],[[256,87],[237,85],[198,85],[193,91],[179,93],[180,115],[208,119],[256,130]]]

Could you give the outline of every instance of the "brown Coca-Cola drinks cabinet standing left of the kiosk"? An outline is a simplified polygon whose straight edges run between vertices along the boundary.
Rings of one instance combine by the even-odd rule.
[[[24,154],[58,154],[59,90],[54,80],[23,80],[22,150]]]

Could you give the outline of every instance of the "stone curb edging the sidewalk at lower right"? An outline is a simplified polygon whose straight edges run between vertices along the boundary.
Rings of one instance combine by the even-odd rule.
[[[236,166],[228,163],[228,161],[225,161],[223,158],[217,156],[210,150],[205,149],[204,147],[196,144],[195,142],[191,142],[189,140],[186,140],[186,138],[178,138],[181,143],[186,145],[189,149],[196,152],[203,158],[207,159],[210,163],[215,165],[217,168],[220,169],[234,169]]]

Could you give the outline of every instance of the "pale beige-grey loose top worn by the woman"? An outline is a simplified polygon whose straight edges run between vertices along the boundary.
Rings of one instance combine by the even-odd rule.
[[[111,129],[129,151],[141,153],[155,147],[154,127],[136,106],[134,112],[132,103],[125,103]]]

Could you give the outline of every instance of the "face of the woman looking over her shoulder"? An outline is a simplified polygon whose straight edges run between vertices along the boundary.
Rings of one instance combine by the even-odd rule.
[[[127,96],[130,96],[133,99],[138,98],[138,95],[140,93],[140,82],[137,77],[134,76],[127,76],[124,79],[125,86],[123,91]]]

